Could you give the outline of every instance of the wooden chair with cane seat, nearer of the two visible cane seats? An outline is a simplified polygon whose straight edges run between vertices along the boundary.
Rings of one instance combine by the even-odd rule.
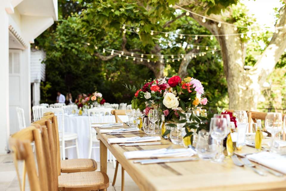
[[[79,173],[66,173],[63,175],[58,174],[57,169],[51,168],[57,166],[55,159],[55,156],[57,156],[57,153],[53,148],[55,148],[55,139],[54,139],[54,133],[52,124],[49,120],[44,119],[45,124],[49,124],[47,126],[44,126],[42,130],[42,139],[44,143],[43,144],[43,150],[50,153],[52,157],[50,157],[51,166],[48,167],[48,175],[49,180],[54,184],[57,183],[57,187],[53,185],[51,191],[89,191],[89,190],[100,190],[100,191],[106,191],[106,188],[109,186],[109,178],[105,173],[92,171],[92,172],[79,172]],[[34,124],[37,128],[41,128],[39,124]],[[43,127],[43,126],[42,126]],[[45,133],[46,132],[46,133]],[[36,148],[38,145],[36,144]],[[52,184],[52,183],[51,183]],[[56,187],[56,188],[55,188]],[[56,189],[56,190],[55,190]]]

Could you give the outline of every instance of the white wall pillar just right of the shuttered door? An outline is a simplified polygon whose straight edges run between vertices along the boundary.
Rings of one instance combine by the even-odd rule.
[[[23,50],[23,109],[25,113],[26,126],[31,125],[31,77],[30,77],[30,58],[31,46]]]

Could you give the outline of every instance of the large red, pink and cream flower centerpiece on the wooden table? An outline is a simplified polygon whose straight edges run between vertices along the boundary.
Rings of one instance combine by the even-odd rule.
[[[128,88],[126,84],[125,87]],[[138,89],[135,86],[129,86],[128,89],[135,92],[132,108],[139,108],[140,111],[145,109],[146,114],[151,108],[158,108],[167,120],[178,119],[178,110],[186,111],[207,104],[201,82],[192,77],[181,80],[179,76],[173,76],[168,82],[166,77],[150,79]]]

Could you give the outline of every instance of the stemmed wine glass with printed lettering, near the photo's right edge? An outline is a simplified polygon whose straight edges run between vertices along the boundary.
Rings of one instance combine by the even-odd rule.
[[[265,117],[265,128],[266,130],[271,133],[271,152],[277,153],[279,152],[279,144],[275,144],[275,136],[276,133],[279,131],[282,131],[282,114],[281,113],[275,113],[275,112],[269,112],[266,114]],[[278,150],[277,150],[277,146]]]

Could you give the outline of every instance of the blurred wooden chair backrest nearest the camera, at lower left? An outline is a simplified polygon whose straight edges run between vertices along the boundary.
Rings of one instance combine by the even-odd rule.
[[[35,141],[36,146],[36,156],[37,156],[37,166],[36,167],[34,154],[31,147],[31,142]],[[11,135],[9,139],[9,145],[13,151],[14,164],[17,172],[19,185],[21,190],[24,190],[24,178],[21,183],[19,170],[18,170],[18,161],[24,160],[24,169],[23,177],[26,176],[26,172],[29,178],[29,185],[31,191],[43,190],[49,191],[48,184],[48,173],[47,173],[47,163],[48,159],[45,157],[49,154],[49,150],[44,150],[42,136],[40,129],[35,128],[34,126],[29,126],[25,129],[18,131]],[[26,171],[27,170],[27,171]],[[37,171],[39,176],[37,175]],[[52,189],[52,191],[54,191]]]

